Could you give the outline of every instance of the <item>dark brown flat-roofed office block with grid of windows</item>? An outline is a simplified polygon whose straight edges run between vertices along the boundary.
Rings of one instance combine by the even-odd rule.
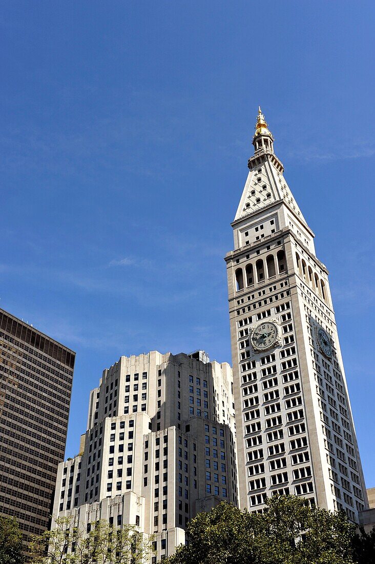
[[[0,310],[0,514],[48,528],[64,460],[75,353]]]

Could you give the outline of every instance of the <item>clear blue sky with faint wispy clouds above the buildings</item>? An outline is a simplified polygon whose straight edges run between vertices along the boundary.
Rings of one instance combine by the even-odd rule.
[[[231,361],[223,257],[261,104],[375,486],[373,3],[12,0],[0,25],[0,306],[77,352],[67,456],[121,354]]]

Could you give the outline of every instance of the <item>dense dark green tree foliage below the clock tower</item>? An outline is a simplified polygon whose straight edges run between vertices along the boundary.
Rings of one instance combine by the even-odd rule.
[[[165,564],[375,563],[375,531],[359,536],[345,513],[296,496],[268,499],[263,514],[221,503],[192,519],[188,539]]]

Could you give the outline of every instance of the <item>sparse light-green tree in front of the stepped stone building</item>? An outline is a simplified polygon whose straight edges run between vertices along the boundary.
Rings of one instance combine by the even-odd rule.
[[[115,528],[105,519],[77,526],[72,515],[55,519],[55,528],[35,537],[30,545],[33,564],[143,564],[152,552],[133,525]]]

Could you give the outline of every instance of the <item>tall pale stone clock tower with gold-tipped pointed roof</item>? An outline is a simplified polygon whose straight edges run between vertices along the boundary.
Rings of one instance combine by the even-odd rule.
[[[294,494],[352,521],[368,501],[328,270],[259,108],[226,255],[240,505]]]

